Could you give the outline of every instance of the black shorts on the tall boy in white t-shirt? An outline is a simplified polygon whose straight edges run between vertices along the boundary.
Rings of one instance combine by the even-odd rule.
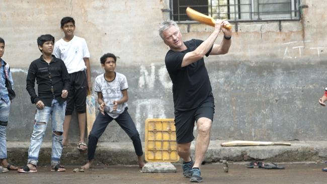
[[[86,113],[86,98],[87,98],[87,74],[86,71],[77,71],[69,74],[70,89],[68,90],[67,106],[65,115],[71,115],[76,109],[76,112]]]

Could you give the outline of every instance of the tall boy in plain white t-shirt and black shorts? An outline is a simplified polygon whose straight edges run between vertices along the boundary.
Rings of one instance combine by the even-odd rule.
[[[68,146],[69,124],[71,114],[75,109],[79,126],[77,149],[79,151],[86,151],[88,147],[84,141],[84,137],[86,129],[87,88],[90,92],[92,90],[89,61],[90,52],[85,39],[74,35],[75,21],[73,18],[62,18],[60,25],[65,36],[54,44],[53,54],[64,61],[71,82],[63,124],[63,145]]]

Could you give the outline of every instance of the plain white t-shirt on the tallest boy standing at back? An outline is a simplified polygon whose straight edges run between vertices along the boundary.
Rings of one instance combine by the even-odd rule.
[[[87,68],[83,58],[89,58],[90,52],[84,38],[74,36],[69,42],[62,38],[54,44],[53,54],[63,60],[68,73],[83,71]]]

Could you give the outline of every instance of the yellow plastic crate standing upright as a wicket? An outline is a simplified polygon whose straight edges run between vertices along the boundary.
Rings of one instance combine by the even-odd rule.
[[[146,119],[145,160],[177,162],[179,159],[174,119]]]

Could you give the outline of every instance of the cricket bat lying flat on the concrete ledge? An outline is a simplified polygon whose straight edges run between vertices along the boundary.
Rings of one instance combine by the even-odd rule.
[[[289,142],[267,142],[267,141],[230,141],[223,142],[221,146],[271,146],[271,145],[280,145],[280,146],[290,146]]]

